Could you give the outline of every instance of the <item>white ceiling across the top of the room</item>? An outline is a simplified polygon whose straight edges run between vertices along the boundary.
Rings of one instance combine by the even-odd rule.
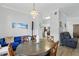
[[[53,10],[59,8],[61,12],[65,13],[68,17],[79,17],[79,4],[78,3],[36,3],[36,9],[41,15],[49,15]],[[2,3],[1,7],[14,10],[21,13],[27,13],[32,10],[32,3]]]

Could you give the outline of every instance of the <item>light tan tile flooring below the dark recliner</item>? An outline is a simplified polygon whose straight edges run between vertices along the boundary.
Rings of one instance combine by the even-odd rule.
[[[58,47],[57,56],[79,56],[79,39],[76,49],[65,46]]]

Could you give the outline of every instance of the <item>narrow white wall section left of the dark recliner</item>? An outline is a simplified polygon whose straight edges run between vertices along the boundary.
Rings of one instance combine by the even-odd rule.
[[[55,12],[57,12],[56,15]],[[59,40],[59,9],[53,11],[50,26],[50,34],[54,36],[55,41]]]

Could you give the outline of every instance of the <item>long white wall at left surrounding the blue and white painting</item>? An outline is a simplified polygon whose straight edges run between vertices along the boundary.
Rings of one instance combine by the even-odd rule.
[[[30,35],[31,21],[32,18],[27,14],[18,13],[16,11],[0,7],[0,37]],[[13,29],[12,22],[24,22],[28,24],[28,29]]]

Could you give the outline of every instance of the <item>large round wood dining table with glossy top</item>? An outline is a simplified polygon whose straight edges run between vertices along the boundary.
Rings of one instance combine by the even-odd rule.
[[[42,39],[39,43],[36,42],[26,42],[20,44],[15,53],[17,56],[44,56],[52,48],[53,42]]]

